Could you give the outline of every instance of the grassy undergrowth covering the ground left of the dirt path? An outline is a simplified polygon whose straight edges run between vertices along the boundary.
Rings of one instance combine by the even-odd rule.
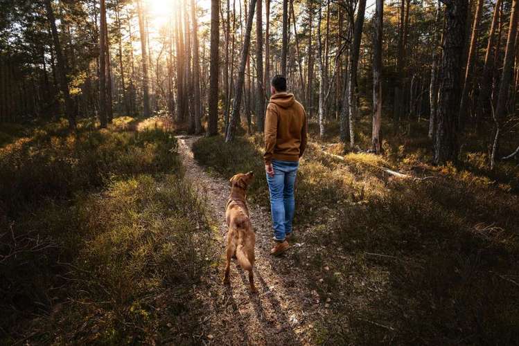
[[[0,343],[193,342],[213,226],[173,134],[138,124],[0,149]]]

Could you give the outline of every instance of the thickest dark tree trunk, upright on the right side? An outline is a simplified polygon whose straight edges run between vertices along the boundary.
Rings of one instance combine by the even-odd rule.
[[[461,62],[463,61],[468,7],[467,0],[442,0],[442,2],[446,5],[446,27],[434,146],[434,163],[436,164],[455,161],[457,158],[459,85],[461,84]]]

